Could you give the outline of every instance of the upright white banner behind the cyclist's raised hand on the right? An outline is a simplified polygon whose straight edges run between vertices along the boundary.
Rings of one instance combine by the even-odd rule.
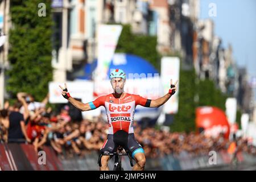
[[[162,57],[161,60],[161,79],[164,93],[170,89],[170,81],[175,84],[180,77],[180,59],[179,57]],[[177,92],[164,104],[163,112],[166,114],[175,114],[179,108],[179,82],[177,83]]]

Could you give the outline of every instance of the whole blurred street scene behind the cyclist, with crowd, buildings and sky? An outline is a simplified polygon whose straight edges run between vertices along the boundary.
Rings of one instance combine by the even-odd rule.
[[[0,170],[98,170],[104,107],[82,102],[125,91],[148,170],[256,169],[256,2],[200,0],[0,1]],[[46,152],[46,164],[38,152]],[[128,158],[122,159],[131,169]],[[110,162],[110,168],[113,161]]]

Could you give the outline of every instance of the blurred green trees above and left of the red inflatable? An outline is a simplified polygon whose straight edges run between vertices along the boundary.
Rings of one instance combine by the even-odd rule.
[[[170,126],[171,131],[195,131],[195,110],[198,106],[216,106],[225,111],[227,96],[216,88],[212,80],[200,80],[197,84],[196,79],[194,70],[184,71],[181,69],[179,111]],[[196,96],[198,100],[195,99]],[[239,117],[239,111],[237,115]]]

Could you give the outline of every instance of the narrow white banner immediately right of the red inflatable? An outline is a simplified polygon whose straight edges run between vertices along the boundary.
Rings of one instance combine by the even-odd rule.
[[[237,117],[237,100],[236,98],[227,98],[226,99],[226,117],[230,124],[236,122]]]

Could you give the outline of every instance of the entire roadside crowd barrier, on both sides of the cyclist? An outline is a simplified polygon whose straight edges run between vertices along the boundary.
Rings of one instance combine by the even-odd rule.
[[[98,170],[98,152],[92,151],[85,156],[74,156],[73,158],[60,158],[53,149],[44,146],[43,151],[46,154],[46,164],[39,164],[40,155],[36,154],[31,144],[0,144],[0,170],[43,170],[43,171],[88,171]],[[188,153],[180,155],[166,155],[161,158],[147,158],[145,170],[197,170],[228,166],[232,163],[232,155],[227,152],[217,152],[214,159],[212,155],[191,156]],[[237,159],[239,164],[248,164],[256,166],[256,156],[245,152],[238,152]],[[133,161],[135,164],[135,161]],[[113,169],[114,158],[109,162],[109,168]],[[131,170],[130,161],[127,156],[122,157],[122,167],[124,170]]]

